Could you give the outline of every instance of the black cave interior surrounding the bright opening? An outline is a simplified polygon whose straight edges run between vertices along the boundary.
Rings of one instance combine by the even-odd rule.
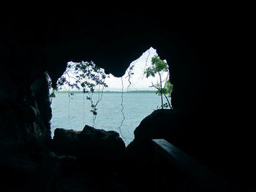
[[[1,191],[255,191],[252,30],[243,17],[173,4],[1,12]],[[149,47],[169,66],[172,110],[148,115],[127,147],[89,126],[51,139],[48,75],[54,87],[68,61],[94,61],[121,77]],[[155,139],[177,147],[184,164],[191,157],[193,175],[203,166],[217,176],[204,183],[156,160]]]

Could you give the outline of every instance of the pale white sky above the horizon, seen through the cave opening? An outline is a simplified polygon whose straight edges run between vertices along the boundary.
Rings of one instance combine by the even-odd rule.
[[[146,75],[144,74],[145,69],[148,66],[151,66],[151,58],[157,55],[157,50],[150,47],[148,50],[146,50],[140,58],[138,58],[135,61],[132,61],[132,63],[129,66],[134,65],[134,68],[132,72],[132,76],[130,77],[129,81],[131,82],[131,85],[129,85],[128,81],[128,71],[129,67],[127,69],[127,72],[124,74],[123,77],[114,77],[113,74],[109,75],[109,78],[106,78],[105,82],[108,85],[108,88],[105,88],[104,91],[121,91],[122,89],[122,82],[121,78],[123,79],[124,88],[123,91],[155,91],[155,88],[151,88],[150,86],[153,84],[156,84],[159,82],[159,77],[148,77],[146,78]],[[162,79],[165,80],[167,78],[168,73],[165,72],[162,74]],[[73,74],[69,74],[70,77],[73,76]],[[74,75],[75,77],[75,75]],[[67,78],[67,76],[66,76]],[[72,82],[72,78],[69,79]],[[64,90],[69,90],[69,88],[65,88]]]

